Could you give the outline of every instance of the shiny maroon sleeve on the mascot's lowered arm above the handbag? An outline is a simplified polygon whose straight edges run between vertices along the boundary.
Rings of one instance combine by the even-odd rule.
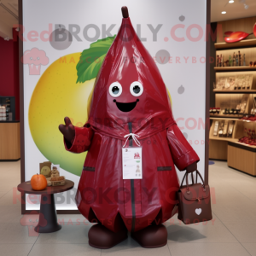
[[[167,140],[171,149],[173,162],[179,171],[185,170],[187,166],[200,160],[176,123],[167,129]]]

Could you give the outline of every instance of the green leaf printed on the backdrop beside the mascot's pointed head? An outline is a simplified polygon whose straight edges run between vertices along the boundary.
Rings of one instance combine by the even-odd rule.
[[[115,35],[113,37],[99,39],[95,43],[90,44],[89,49],[84,49],[77,65],[77,83],[84,83],[85,81],[96,78],[114,38]]]

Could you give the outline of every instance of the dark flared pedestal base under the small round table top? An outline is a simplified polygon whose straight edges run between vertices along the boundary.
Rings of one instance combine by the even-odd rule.
[[[38,233],[52,233],[61,230],[57,222],[54,194],[41,195],[40,214],[35,231]]]

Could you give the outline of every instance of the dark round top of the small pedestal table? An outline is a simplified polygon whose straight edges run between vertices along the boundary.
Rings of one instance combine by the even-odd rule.
[[[30,181],[20,183],[17,189],[20,192],[25,192],[26,194],[34,194],[34,195],[47,195],[47,194],[55,194],[67,191],[69,189],[73,189],[73,181],[66,179],[66,183],[61,186],[47,186],[43,190],[34,190],[32,189]]]

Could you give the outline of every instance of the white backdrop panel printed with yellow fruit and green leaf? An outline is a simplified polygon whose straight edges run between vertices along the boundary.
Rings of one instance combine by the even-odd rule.
[[[61,175],[73,180],[75,188],[56,195],[57,209],[77,208],[73,199],[85,158],[85,153],[66,152],[58,125],[65,116],[73,125],[84,125],[88,97],[118,32],[123,5],[160,69],[172,96],[174,118],[199,154],[204,174],[206,2],[23,0],[25,176],[29,180],[44,161],[61,165]],[[81,65],[83,72],[77,73],[83,51],[94,61]],[[184,172],[177,173],[181,178]],[[39,208],[39,200],[33,202],[26,200],[27,210]]]

